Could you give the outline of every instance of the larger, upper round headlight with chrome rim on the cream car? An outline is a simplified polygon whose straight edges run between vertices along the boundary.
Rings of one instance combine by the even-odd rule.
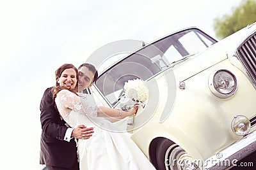
[[[236,92],[236,76],[226,69],[214,71],[209,77],[209,88],[217,97],[228,98]]]

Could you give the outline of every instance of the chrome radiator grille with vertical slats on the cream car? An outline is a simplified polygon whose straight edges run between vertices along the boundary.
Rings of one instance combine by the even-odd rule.
[[[256,32],[237,48],[237,56],[256,85]]]

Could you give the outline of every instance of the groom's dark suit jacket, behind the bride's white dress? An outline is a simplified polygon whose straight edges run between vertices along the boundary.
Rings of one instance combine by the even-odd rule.
[[[52,87],[45,90],[40,103],[40,164],[67,168],[77,160],[76,142],[74,139],[70,142],[63,140],[68,127],[54,108],[51,90]]]

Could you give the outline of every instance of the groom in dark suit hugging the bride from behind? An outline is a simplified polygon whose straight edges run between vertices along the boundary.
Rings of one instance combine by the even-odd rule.
[[[98,73],[92,64],[84,63],[78,67],[79,92],[92,87]],[[40,140],[40,164],[45,164],[49,170],[78,170],[77,139],[89,139],[93,128],[79,125],[76,129],[67,127],[60,113],[54,108],[52,87],[44,92],[40,103],[40,121],[42,134]]]

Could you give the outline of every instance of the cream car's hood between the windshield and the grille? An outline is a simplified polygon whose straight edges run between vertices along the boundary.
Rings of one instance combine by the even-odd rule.
[[[207,50],[197,53],[189,59],[180,62],[173,67],[173,73],[177,81],[184,81],[205,69],[233,56],[237,47],[248,38],[252,32],[256,31],[256,24],[248,25],[244,29],[222,39],[218,43],[207,48]]]

